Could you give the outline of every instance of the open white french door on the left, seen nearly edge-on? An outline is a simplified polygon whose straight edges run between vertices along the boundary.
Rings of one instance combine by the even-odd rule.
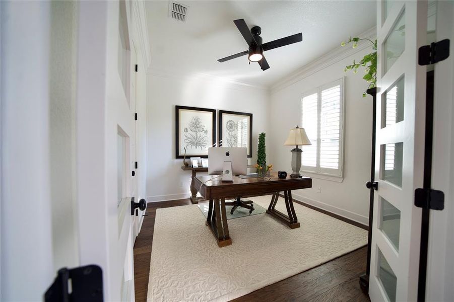
[[[78,5],[81,265],[97,264],[102,268],[104,300],[134,301],[131,200],[135,197],[137,201],[137,185],[131,8],[123,1]]]

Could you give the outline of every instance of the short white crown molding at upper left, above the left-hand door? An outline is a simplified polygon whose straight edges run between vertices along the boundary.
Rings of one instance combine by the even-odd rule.
[[[135,22],[137,30],[139,48],[142,53],[145,70],[150,68],[151,64],[151,51],[150,41],[148,40],[148,25],[147,25],[147,12],[145,10],[145,2],[143,0],[132,1],[132,17]]]

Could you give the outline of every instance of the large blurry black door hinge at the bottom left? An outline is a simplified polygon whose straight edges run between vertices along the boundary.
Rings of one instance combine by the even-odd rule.
[[[71,279],[71,293],[68,282]],[[102,302],[102,269],[97,265],[60,268],[52,285],[44,294],[45,302],[90,301]]]

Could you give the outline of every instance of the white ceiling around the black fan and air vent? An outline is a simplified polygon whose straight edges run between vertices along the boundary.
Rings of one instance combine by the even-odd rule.
[[[209,74],[271,86],[287,74],[340,47],[376,23],[375,1],[178,1],[189,6],[185,23],[168,17],[168,1],[146,2],[151,68],[156,72]],[[233,20],[262,28],[263,42],[299,32],[303,41],[265,52],[271,68],[247,56],[217,59],[247,49]]]

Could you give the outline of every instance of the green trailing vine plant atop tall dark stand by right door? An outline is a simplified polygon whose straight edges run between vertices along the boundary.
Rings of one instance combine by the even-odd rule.
[[[363,79],[369,83],[369,87],[367,88],[369,89],[377,86],[377,40],[372,41],[367,38],[350,37],[347,42],[342,42],[341,46],[344,47],[349,43],[353,43],[352,47],[356,48],[358,47],[358,42],[362,40],[369,41],[372,44],[372,50],[374,51],[366,54],[359,62],[353,60],[353,64],[345,66],[344,71],[353,70],[353,73],[357,73],[360,66],[366,67],[364,69],[365,75]],[[363,98],[365,97],[366,92],[363,92]]]

